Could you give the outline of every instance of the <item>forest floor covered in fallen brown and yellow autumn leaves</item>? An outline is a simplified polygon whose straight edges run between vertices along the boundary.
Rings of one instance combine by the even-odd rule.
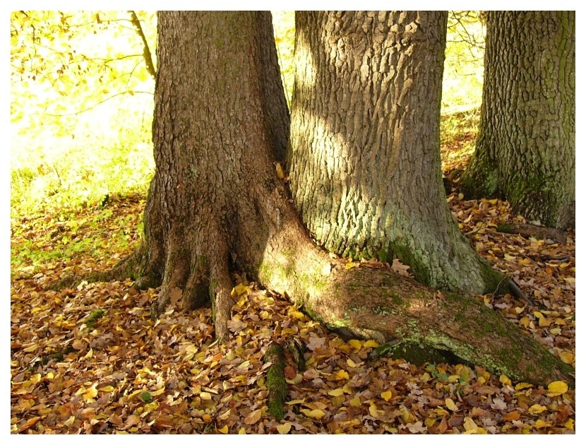
[[[473,131],[444,140],[456,184]],[[566,242],[496,232],[522,223],[508,203],[448,194],[482,256],[520,285],[477,298],[575,367],[575,232]],[[211,309],[171,304],[150,318],[157,290],[130,280],[46,291],[72,273],[114,265],[140,242],[143,196],[100,207],[42,208],[11,220],[13,433],[558,433],[573,434],[575,391],[510,381],[480,367],[369,358],[373,341],[346,342],[281,295],[235,276],[231,338],[214,342]],[[263,354],[272,340],[307,345],[307,368],[285,369],[285,417],[265,406]]]

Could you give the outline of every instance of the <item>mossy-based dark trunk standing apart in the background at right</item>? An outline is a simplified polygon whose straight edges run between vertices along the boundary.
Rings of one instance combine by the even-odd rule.
[[[491,11],[476,150],[461,180],[533,223],[575,226],[575,12]]]

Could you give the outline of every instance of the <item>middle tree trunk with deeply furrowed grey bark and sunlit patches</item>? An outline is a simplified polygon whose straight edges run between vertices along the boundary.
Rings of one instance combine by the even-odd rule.
[[[460,233],[441,179],[446,20],[445,11],[297,12],[291,190],[329,251],[396,256],[421,283],[493,292],[501,278]]]

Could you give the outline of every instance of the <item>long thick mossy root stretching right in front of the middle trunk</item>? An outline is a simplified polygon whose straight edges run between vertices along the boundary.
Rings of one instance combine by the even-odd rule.
[[[384,268],[346,269],[329,258],[330,267],[324,268],[316,252],[301,244],[288,256],[277,250],[265,255],[261,282],[286,292],[329,328],[379,343],[400,340],[450,351],[517,381],[574,384],[570,366],[483,302],[433,290]]]

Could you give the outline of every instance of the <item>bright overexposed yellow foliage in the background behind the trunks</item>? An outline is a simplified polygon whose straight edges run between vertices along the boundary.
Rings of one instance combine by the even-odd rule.
[[[145,40],[133,23],[140,21]],[[453,11],[443,81],[444,113],[482,95],[484,27],[476,11]],[[78,206],[108,194],[145,194],[153,173],[155,11],[11,13],[11,202]],[[290,105],[294,11],[273,11]]]

